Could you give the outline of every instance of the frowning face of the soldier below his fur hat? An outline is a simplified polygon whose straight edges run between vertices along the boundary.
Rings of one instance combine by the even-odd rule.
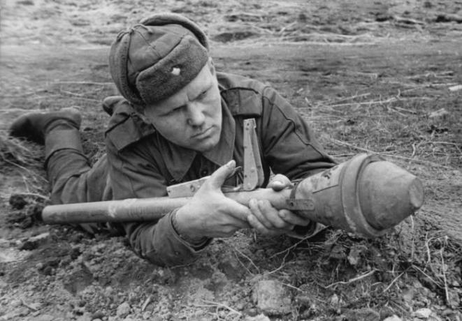
[[[173,96],[148,105],[143,112],[167,140],[194,151],[210,151],[222,132],[222,107],[211,59]]]

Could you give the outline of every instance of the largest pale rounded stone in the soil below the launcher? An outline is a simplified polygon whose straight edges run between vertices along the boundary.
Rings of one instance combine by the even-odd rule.
[[[290,293],[277,281],[259,281],[254,287],[253,296],[257,308],[267,315],[284,315],[291,311]]]

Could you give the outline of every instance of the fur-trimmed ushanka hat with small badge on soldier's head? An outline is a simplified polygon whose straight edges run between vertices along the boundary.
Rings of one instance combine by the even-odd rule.
[[[147,17],[117,35],[109,68],[129,102],[145,106],[191,82],[208,61],[208,40],[191,20],[174,13]]]

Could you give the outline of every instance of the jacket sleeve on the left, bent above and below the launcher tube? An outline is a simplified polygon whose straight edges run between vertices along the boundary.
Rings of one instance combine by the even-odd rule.
[[[166,179],[160,174],[152,151],[143,147],[143,141],[117,151],[106,139],[106,148],[114,200],[166,196]],[[124,223],[133,251],[161,266],[192,262],[208,242],[193,247],[183,240],[172,225],[175,212],[165,213],[159,221]]]

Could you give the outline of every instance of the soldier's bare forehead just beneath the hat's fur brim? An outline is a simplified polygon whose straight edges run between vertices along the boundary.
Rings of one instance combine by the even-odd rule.
[[[180,91],[173,94],[173,96],[161,100],[159,103],[148,105],[146,109],[152,112],[164,112],[185,105],[190,100],[197,98],[203,91],[209,89],[214,83],[213,77],[215,75],[212,75],[210,72],[209,64],[205,64],[198,75],[185,87],[180,89]]]

